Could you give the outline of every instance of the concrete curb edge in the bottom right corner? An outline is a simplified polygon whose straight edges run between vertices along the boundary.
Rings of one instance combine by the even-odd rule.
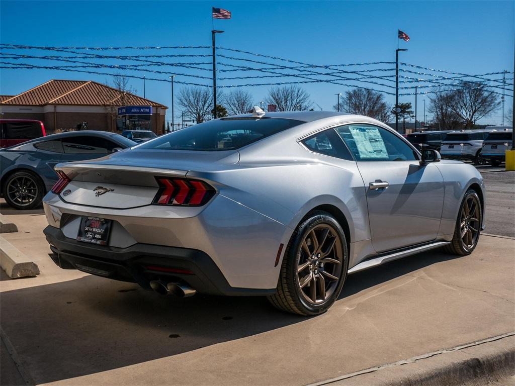
[[[308,386],[489,384],[515,375],[515,332],[388,363]]]

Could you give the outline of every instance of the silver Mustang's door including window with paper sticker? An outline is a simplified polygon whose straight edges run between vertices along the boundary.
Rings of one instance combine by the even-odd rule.
[[[434,240],[443,207],[443,179],[436,165],[420,165],[414,149],[385,128],[353,124],[337,132],[365,183],[374,250]]]

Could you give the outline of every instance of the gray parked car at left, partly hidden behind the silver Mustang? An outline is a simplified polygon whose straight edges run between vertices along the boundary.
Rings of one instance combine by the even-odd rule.
[[[71,131],[32,139],[0,149],[0,196],[16,209],[41,205],[57,182],[58,162],[91,160],[136,145],[121,135],[104,131]]]

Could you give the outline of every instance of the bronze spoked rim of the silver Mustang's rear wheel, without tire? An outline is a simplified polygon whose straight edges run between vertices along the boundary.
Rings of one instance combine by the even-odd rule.
[[[341,240],[329,224],[319,223],[308,232],[297,253],[298,286],[306,302],[324,303],[338,287],[343,253]]]

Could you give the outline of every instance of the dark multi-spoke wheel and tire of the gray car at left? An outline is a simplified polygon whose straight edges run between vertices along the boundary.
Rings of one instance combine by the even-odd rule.
[[[30,171],[10,174],[2,186],[5,201],[15,209],[33,209],[41,206],[44,196],[41,178]]]

